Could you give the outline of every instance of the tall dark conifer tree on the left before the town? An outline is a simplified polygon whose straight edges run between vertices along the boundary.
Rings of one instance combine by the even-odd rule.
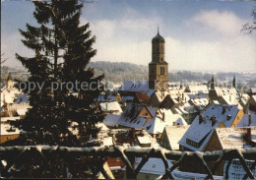
[[[20,32],[25,37],[24,45],[33,50],[34,56],[16,54],[31,73],[29,82],[35,85],[29,91],[32,108],[24,119],[15,122],[23,133],[13,143],[85,146],[98,131],[96,123],[103,119],[95,104],[103,75],[96,77],[94,69],[88,68],[96,55],[93,48],[96,36],[92,36],[89,24],[80,26],[83,3],[78,0],[33,4],[33,16],[40,26],[27,24],[27,30]],[[82,89],[76,83],[93,87]]]

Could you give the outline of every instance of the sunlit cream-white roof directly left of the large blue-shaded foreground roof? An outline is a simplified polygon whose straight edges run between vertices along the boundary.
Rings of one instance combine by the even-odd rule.
[[[167,140],[171,150],[179,150],[178,142],[182,136],[186,133],[189,126],[165,126]]]

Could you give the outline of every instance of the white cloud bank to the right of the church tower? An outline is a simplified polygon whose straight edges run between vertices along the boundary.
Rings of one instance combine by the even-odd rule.
[[[184,62],[185,69],[192,70],[255,72],[255,36],[240,31],[246,22],[227,11],[197,13],[186,22],[195,36],[181,42],[183,52],[175,61]]]

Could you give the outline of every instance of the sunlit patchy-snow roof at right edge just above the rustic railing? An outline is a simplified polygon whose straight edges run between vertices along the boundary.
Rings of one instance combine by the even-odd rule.
[[[243,139],[248,128],[218,128],[217,136],[220,139],[223,149],[249,149],[253,148]],[[250,127],[251,140],[256,143],[256,127]]]

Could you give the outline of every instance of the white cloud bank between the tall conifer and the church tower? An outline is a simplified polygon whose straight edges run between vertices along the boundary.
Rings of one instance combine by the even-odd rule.
[[[81,22],[85,24],[87,20]],[[147,65],[152,59],[151,38],[157,34],[160,25],[159,17],[149,19],[129,8],[114,20],[91,22],[93,34],[96,34],[97,54],[94,60]]]

